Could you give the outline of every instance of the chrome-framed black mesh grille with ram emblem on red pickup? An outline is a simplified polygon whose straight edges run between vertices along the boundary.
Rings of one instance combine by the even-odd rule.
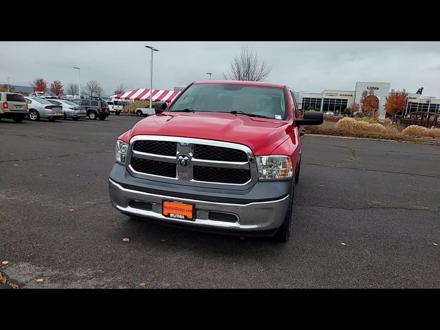
[[[190,137],[142,137],[136,137],[129,156],[134,175],[146,175],[146,179],[148,175],[159,175],[181,184],[197,181],[208,186],[243,186],[257,180],[252,151],[241,144]],[[183,156],[180,161],[179,156]]]

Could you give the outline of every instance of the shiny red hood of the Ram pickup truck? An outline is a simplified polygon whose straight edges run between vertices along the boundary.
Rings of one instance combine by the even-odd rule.
[[[292,131],[292,125],[285,120],[218,112],[165,112],[137,122],[131,131],[126,132],[124,140],[128,141],[135,135],[195,137],[245,144],[254,155],[270,155],[279,144],[291,137],[292,132],[289,131]]]

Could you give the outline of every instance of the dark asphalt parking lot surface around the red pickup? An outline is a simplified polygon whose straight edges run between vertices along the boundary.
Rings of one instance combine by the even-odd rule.
[[[276,244],[153,225],[115,210],[108,196],[115,140],[137,120],[0,122],[0,261],[9,261],[0,271],[10,282],[440,287],[438,146],[306,136],[292,240]]]

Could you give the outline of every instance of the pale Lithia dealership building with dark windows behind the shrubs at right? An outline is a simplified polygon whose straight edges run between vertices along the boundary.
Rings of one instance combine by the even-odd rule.
[[[309,93],[306,91],[296,92],[296,99],[299,100],[300,109],[307,110],[314,107],[326,113],[331,111],[335,114],[344,113],[344,109],[353,102],[359,103],[363,91],[373,91],[379,100],[379,118],[385,118],[386,97],[390,93],[390,83],[369,83],[358,82],[354,91],[340,91],[336,89],[325,89],[322,93]],[[408,94],[408,111],[432,111],[439,112],[440,100],[434,97],[421,97],[421,94]]]

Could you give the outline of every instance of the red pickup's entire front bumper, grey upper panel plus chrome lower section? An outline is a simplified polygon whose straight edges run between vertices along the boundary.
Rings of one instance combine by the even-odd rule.
[[[125,172],[124,175],[120,173],[122,170]],[[115,173],[119,173],[119,175],[115,175]],[[157,186],[151,184],[149,186],[147,184],[135,184],[134,181],[139,179],[131,177],[124,166],[119,164],[115,164],[111,174],[113,174],[113,178],[116,177],[119,181],[112,179],[112,175],[109,179],[111,203],[117,210],[126,215],[143,217],[168,224],[181,224],[201,230],[223,230],[223,232],[230,232],[231,234],[234,232],[240,232],[241,234],[246,234],[246,232],[256,234],[260,232],[262,236],[265,236],[265,232],[272,231],[271,234],[274,234],[276,228],[283,224],[289,204],[288,192],[290,190],[287,187],[292,184],[286,181],[283,181],[283,184],[281,184],[281,181],[259,182],[254,187],[259,184],[267,186],[255,189],[257,192],[254,190],[254,192],[241,195],[240,198],[225,193],[223,193],[223,198],[221,198],[222,193],[219,194],[219,192],[212,194],[200,192],[199,195],[180,194],[177,192],[178,190],[171,192],[166,187],[162,187],[165,189],[161,192],[157,189]],[[125,177],[125,180],[121,180],[122,177]],[[277,185],[278,189],[270,188],[270,186],[274,185]],[[174,186],[179,185],[176,184]],[[283,186],[283,188],[279,189],[280,186]],[[276,190],[278,191],[276,192]],[[268,197],[267,195],[262,195],[264,191],[270,191],[268,195],[271,195],[271,200],[264,200],[265,197]],[[184,188],[182,188],[181,192],[184,192]],[[279,196],[274,198],[274,192],[278,193]],[[186,197],[188,195],[190,198]],[[256,197],[256,195],[260,197]],[[162,215],[163,199],[195,204],[195,219],[181,220],[164,217]],[[133,201],[151,203],[151,210],[133,207],[133,204],[131,204]],[[234,214],[236,221],[229,222],[210,219],[210,212]]]

